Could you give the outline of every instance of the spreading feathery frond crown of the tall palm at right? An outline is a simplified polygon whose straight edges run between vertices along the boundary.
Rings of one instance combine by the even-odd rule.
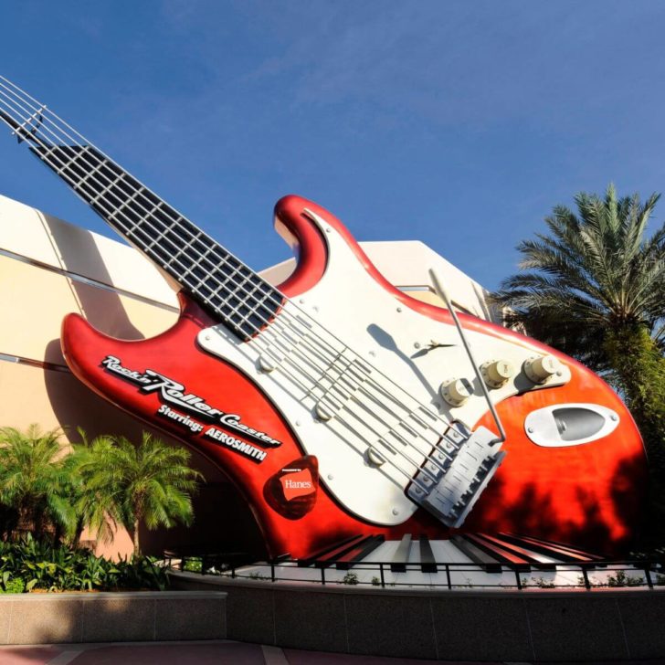
[[[548,233],[518,245],[521,272],[501,282],[491,301],[505,321],[607,372],[608,330],[643,325],[665,346],[665,224],[645,237],[660,199],[575,195],[576,213],[554,206]]]

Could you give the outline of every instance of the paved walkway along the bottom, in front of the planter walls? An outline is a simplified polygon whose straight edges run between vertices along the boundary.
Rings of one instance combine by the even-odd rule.
[[[280,649],[231,641],[134,642],[0,647],[0,665],[537,665],[535,662],[473,663],[460,660],[416,660]],[[665,665],[663,660],[623,660],[623,665]],[[551,664],[550,664],[551,665]],[[561,663],[560,665],[575,665]],[[585,665],[607,665],[585,663]]]

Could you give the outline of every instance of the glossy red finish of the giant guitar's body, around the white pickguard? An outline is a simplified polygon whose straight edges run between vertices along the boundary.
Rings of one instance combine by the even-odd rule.
[[[343,234],[358,261],[403,306],[450,324],[448,311],[409,298],[390,285],[339,220],[298,196],[284,197],[276,206],[278,231],[299,255],[295,272],[280,286],[283,293],[292,297],[310,289],[326,267],[327,246],[317,227],[302,214],[305,207]],[[70,314],[62,329],[65,357],[75,375],[101,396],[214,460],[250,504],[270,554],[306,556],[358,533],[384,533],[390,538],[404,533],[430,538],[449,534],[422,509],[392,528],[365,523],[346,512],[319,484],[317,460],[301,449],[269,396],[247,375],[197,344],[197,333],[217,322],[189,297],[181,294],[180,300],[182,312],[174,327],[139,342],[103,335],[78,315]],[[460,319],[468,330],[523,343],[523,336],[515,332],[471,316],[460,315]],[[571,358],[544,345],[540,349],[563,360],[571,368],[572,378],[565,386],[512,396],[497,406],[508,435],[503,444],[507,455],[464,530],[511,531],[617,551],[635,534],[644,491],[646,465],[638,429],[621,400],[600,378]],[[209,405],[232,413],[241,411],[244,422],[279,439],[281,445],[270,448],[258,464],[257,459],[237,454],[228,444],[193,433],[182,422],[155,416],[164,404],[158,394],[140,394],[132,377],[123,381],[109,372],[100,363],[110,355],[121,359],[125,368],[139,373],[150,368],[181,382],[188,394]],[[524,418],[534,409],[559,402],[607,406],[618,413],[619,426],[607,437],[585,445],[558,449],[534,445],[524,433]],[[476,425],[493,428],[489,415],[474,428]],[[244,438],[237,435],[237,440]],[[256,442],[248,442],[260,448]],[[291,468],[300,471],[285,476],[284,470]],[[296,480],[290,480],[293,478]],[[223,506],[220,511],[224,511]]]

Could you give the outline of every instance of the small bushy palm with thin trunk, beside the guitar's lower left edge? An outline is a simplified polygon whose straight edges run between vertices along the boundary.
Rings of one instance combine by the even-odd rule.
[[[135,556],[141,555],[142,523],[152,530],[192,522],[191,497],[201,474],[187,465],[190,454],[184,448],[143,432],[138,446],[125,437],[96,438],[80,454],[85,489],[79,508],[98,530],[107,528],[108,520],[121,523],[132,533]]]

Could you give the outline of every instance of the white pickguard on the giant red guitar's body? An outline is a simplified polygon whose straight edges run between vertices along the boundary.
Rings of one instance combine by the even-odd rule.
[[[460,420],[473,426],[488,410],[487,402],[455,327],[396,301],[369,275],[333,227],[320,216],[310,216],[328,243],[322,280],[288,302],[276,322],[252,341],[241,342],[224,325],[217,325],[201,331],[198,342],[209,353],[235,364],[265,390],[302,447],[318,458],[322,482],[350,512],[373,523],[403,523],[417,510],[417,504],[405,494],[406,486],[447,423]],[[290,330],[304,332],[305,341]],[[569,370],[563,367],[561,375],[553,376],[546,385],[534,385],[521,368],[539,353],[526,339],[521,346],[479,332],[468,332],[468,338],[479,364],[503,359],[518,369],[507,384],[491,390],[495,403],[517,392],[561,385],[570,379]],[[431,342],[449,346],[428,350]],[[357,360],[374,369],[359,389],[345,391],[351,396],[324,420],[320,416],[328,410],[324,393],[330,381],[324,379],[322,387],[317,387],[316,380],[325,371],[329,354],[341,354],[335,368]],[[270,371],[259,369],[261,364],[266,366],[265,358],[275,357],[278,360],[270,361]],[[363,372],[354,371],[355,376],[359,374]],[[473,385],[473,394],[463,406],[449,406],[438,392],[439,385],[451,378],[466,378]],[[409,423],[417,420],[407,420],[406,427],[400,424],[400,414],[406,411],[415,412],[432,427],[426,433],[409,431]],[[387,447],[381,443],[391,429],[401,432],[401,445],[394,440]],[[370,448],[385,463],[376,466],[368,455]]]

